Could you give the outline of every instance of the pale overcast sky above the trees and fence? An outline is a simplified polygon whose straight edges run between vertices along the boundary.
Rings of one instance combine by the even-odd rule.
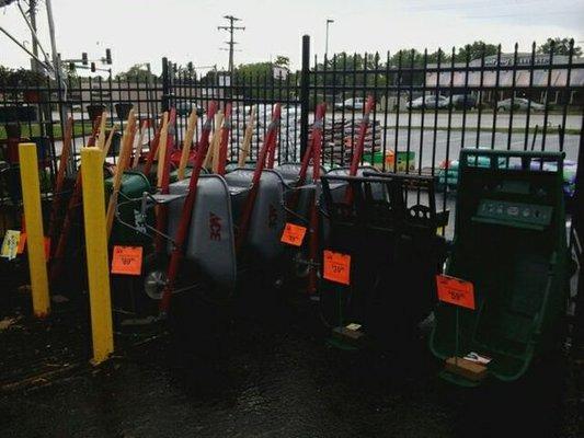
[[[39,0],[41,41],[50,50],[45,0]],[[277,55],[300,65],[301,36],[311,37],[311,53],[373,53],[416,48],[449,50],[473,41],[502,44],[511,51],[529,50],[534,41],[573,37],[584,46],[584,0],[53,0],[57,49],[62,58],[101,58],[112,49],[114,72],[161,58],[195,67],[226,68],[222,19],[241,19],[236,65],[268,61]],[[0,26],[30,47],[31,35],[15,3],[0,9]],[[0,65],[30,66],[28,57],[0,33]]]

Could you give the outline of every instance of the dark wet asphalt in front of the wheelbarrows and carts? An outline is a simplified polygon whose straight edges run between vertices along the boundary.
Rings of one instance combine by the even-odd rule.
[[[576,437],[582,433],[577,411],[582,394],[574,384],[574,361],[566,356],[537,364],[514,384],[455,388],[436,378],[439,364],[430,355],[424,333],[391,353],[341,350],[328,343],[313,304],[274,297],[221,310],[201,302],[196,312],[160,326],[158,337],[117,351],[98,369],[83,360],[67,376],[0,392],[2,436]],[[184,323],[187,331],[178,331]],[[26,348],[26,338],[21,341]]]

